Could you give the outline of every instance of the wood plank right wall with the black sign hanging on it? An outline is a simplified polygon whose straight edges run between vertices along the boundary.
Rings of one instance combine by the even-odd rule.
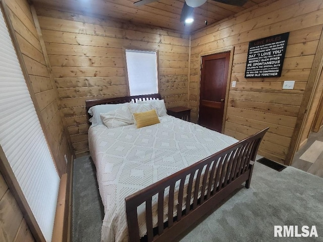
[[[200,53],[234,46],[227,97],[225,134],[241,140],[270,127],[259,153],[284,163],[322,32],[320,0],[273,0],[192,34],[189,105],[198,118]],[[280,78],[245,79],[249,41],[290,32]],[[282,90],[285,80],[295,80],[294,90]],[[289,161],[286,161],[287,163]]]

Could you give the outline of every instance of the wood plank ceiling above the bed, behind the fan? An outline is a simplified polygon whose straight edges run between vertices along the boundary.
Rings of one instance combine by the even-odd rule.
[[[194,22],[180,22],[184,0],[161,0],[144,6],[133,5],[137,0],[33,0],[37,7],[51,8],[77,14],[110,18],[120,22],[150,25],[189,34],[267,0],[248,0],[243,7],[236,7],[207,0],[193,12]]]

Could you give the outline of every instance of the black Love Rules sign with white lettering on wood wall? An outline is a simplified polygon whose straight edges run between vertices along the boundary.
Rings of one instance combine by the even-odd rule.
[[[249,42],[245,78],[280,77],[289,32]]]

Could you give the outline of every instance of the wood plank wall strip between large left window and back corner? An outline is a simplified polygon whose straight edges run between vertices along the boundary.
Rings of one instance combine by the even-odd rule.
[[[73,153],[69,148],[68,134],[64,131],[58,94],[49,78],[30,6],[27,0],[6,0],[5,3],[32,84],[30,92],[35,93],[41,111],[39,118],[45,123],[49,147],[61,176],[66,172],[64,156],[70,159]]]

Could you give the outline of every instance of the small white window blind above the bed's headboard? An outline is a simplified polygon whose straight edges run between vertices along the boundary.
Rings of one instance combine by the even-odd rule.
[[[130,95],[158,93],[157,53],[126,49]]]

